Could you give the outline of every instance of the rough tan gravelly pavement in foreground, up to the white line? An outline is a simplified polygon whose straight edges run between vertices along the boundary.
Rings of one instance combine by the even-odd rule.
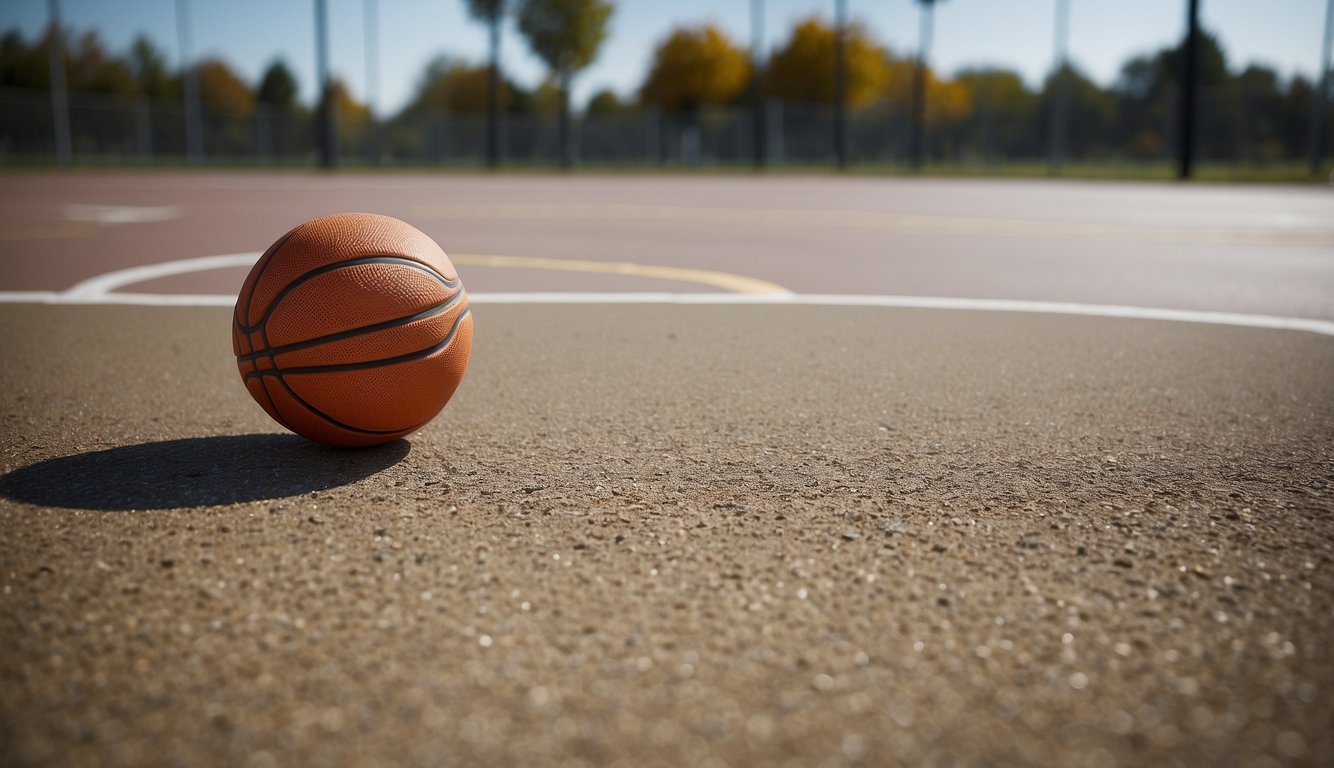
[[[0,307],[0,763],[1334,763],[1334,339],[475,312],[334,451],[225,309]]]

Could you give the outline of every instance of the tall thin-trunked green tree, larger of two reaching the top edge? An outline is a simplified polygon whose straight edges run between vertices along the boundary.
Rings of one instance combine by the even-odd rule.
[[[607,0],[523,0],[519,7],[519,32],[560,87],[560,165],[564,168],[571,165],[570,81],[598,56],[598,48],[607,39],[611,11]]]

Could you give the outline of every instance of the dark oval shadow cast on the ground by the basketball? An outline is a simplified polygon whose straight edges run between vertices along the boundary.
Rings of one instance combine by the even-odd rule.
[[[296,496],[356,483],[408,455],[325,448],[296,435],[189,437],[51,459],[0,477],[0,496],[75,509],[175,509]]]

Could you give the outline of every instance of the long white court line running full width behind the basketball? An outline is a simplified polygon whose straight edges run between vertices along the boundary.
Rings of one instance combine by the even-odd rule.
[[[253,255],[245,255],[252,257]],[[212,259],[223,259],[215,256]],[[236,264],[223,264],[235,267]],[[209,267],[215,268],[215,267]],[[160,275],[157,275],[160,276]],[[151,277],[140,277],[151,279]],[[129,280],[133,283],[137,280]],[[91,283],[91,281],[88,281]],[[891,307],[900,309],[954,309],[963,312],[1030,312],[1037,315],[1082,315],[1133,320],[1169,320],[1242,328],[1306,331],[1334,336],[1334,323],[1307,317],[1198,312],[1119,304],[1075,304],[1069,301],[1023,301],[1014,299],[952,299],[947,296],[874,296],[848,293],[470,293],[476,304],[782,304],[811,307]],[[12,291],[0,292],[3,304],[128,304],[136,307],[231,307],[235,296],[172,293],[97,293],[95,291]]]

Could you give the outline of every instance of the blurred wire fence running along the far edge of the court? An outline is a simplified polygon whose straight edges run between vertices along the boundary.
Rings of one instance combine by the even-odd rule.
[[[1050,103],[1027,109],[976,97],[966,115],[926,115],[926,160],[986,167],[1053,161],[1153,164],[1169,161],[1178,136],[1179,96],[1169,91],[1134,109],[1115,103],[1081,103],[1065,109],[1061,153],[1051,152]],[[71,92],[69,133],[76,163],[107,165],[313,165],[315,115],[256,104],[245,112],[204,108],[201,147],[191,156],[187,116],[179,101]],[[1199,157],[1206,161],[1266,165],[1306,160],[1314,99],[1267,104],[1231,91],[1203,89],[1199,100]],[[1334,109],[1319,140],[1334,148]],[[835,112],[828,104],[768,101],[756,131],[751,107],[706,107],[695,112],[626,108],[576,116],[572,155],[586,165],[740,167],[759,155],[771,167],[828,165],[835,159]],[[375,120],[366,113],[336,116],[340,164],[431,167],[479,165],[486,160],[484,113],[426,111]],[[848,159],[860,165],[900,165],[910,160],[907,105],[882,101],[850,109],[844,123]],[[502,157],[510,165],[550,165],[560,157],[558,117],[508,113],[500,121]],[[56,157],[55,120],[47,91],[0,88],[0,161],[47,164]]]

